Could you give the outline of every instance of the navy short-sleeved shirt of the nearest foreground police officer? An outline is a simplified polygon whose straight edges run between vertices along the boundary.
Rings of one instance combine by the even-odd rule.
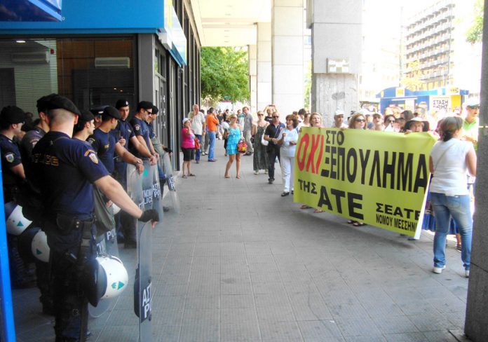
[[[32,182],[41,189],[47,214],[93,215],[93,185],[109,175],[85,142],[48,132],[32,150]]]

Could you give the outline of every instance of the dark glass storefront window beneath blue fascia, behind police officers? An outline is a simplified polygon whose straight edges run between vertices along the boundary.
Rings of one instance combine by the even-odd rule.
[[[16,105],[36,115],[36,100],[59,93],[80,109],[135,106],[135,40],[54,38],[0,40],[0,108]]]

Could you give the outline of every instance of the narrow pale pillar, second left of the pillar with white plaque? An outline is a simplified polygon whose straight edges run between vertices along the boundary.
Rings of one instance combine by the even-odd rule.
[[[271,22],[257,23],[257,109],[273,102],[271,95]]]

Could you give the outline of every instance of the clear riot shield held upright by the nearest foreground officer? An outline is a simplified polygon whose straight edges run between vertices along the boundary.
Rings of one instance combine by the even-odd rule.
[[[137,259],[134,282],[134,312],[139,317],[139,341],[152,340],[152,226],[137,224]]]

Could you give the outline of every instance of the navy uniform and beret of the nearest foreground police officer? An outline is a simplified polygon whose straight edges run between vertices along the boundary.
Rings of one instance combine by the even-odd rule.
[[[65,97],[53,97],[48,109],[80,115]],[[50,131],[32,151],[32,182],[45,203],[56,341],[78,341],[86,334],[88,301],[83,295],[83,267],[95,259],[93,182],[109,175],[93,149],[64,132]],[[83,325],[82,325],[83,324]]]

